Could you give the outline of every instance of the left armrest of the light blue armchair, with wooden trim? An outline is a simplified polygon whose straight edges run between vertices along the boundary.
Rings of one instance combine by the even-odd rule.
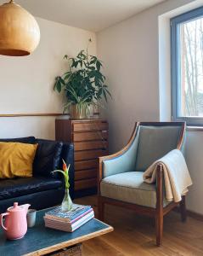
[[[116,154],[99,157],[99,183],[104,177],[121,172],[131,172],[135,167],[138,148],[138,123],[135,125],[133,135],[127,146]]]

